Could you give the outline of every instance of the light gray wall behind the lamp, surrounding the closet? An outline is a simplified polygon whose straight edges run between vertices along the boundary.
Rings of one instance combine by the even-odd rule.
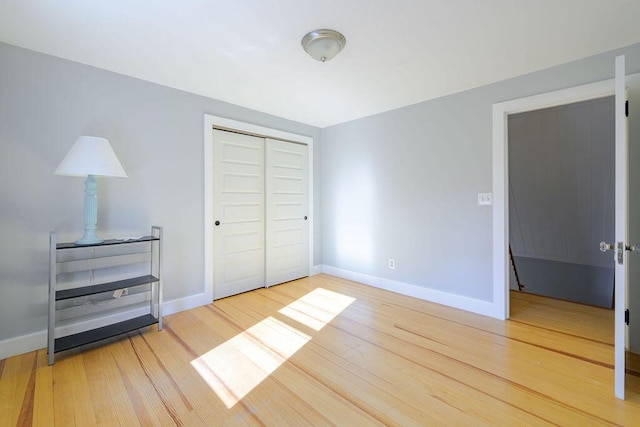
[[[0,44],[0,341],[46,328],[48,232],[82,234],[81,178],[53,171],[79,135],[108,138],[128,179],[99,178],[99,230],[165,227],[165,300],[203,292],[203,115],[315,139],[315,263],[321,264],[317,128]]]

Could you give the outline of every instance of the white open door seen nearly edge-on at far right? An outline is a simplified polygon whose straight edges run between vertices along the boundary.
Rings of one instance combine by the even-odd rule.
[[[625,351],[626,329],[625,311],[627,309],[629,245],[628,209],[629,209],[629,142],[626,118],[626,75],[625,58],[616,58],[616,243],[615,243],[615,395],[624,399],[625,392]]]

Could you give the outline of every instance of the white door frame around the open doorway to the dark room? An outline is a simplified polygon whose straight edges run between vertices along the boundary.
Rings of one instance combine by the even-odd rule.
[[[495,317],[509,318],[509,114],[614,95],[614,80],[514,99],[493,105],[493,302]]]

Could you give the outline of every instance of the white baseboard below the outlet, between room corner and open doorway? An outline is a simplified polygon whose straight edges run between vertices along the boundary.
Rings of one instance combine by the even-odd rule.
[[[322,272],[331,276],[353,280],[354,282],[373,286],[375,288],[385,289],[387,291],[419,298],[430,302],[435,302],[453,308],[459,308],[461,310],[470,311],[472,313],[502,319],[499,314],[496,314],[497,310],[493,302],[450,294],[434,289],[423,288],[422,286],[412,285],[409,283],[383,279],[376,276],[369,276],[368,274],[343,270],[341,268],[332,267],[329,265],[323,265]]]

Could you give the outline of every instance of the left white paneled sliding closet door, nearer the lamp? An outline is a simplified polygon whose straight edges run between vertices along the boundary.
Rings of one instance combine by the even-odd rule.
[[[214,299],[264,286],[264,139],[213,131]]]

